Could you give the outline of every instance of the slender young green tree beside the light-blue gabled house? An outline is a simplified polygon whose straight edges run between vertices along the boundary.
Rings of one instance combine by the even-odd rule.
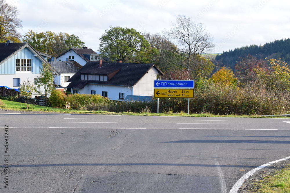
[[[55,89],[53,84],[53,74],[51,66],[48,63],[42,63],[42,67],[39,68],[40,75],[36,80],[36,92],[45,96],[45,105],[48,95]]]

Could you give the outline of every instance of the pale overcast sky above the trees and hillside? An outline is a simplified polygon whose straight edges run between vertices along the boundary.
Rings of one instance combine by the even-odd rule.
[[[203,23],[214,37],[213,53],[290,36],[290,1],[286,0],[6,0],[17,6],[28,30],[75,34],[99,50],[99,38],[113,27],[162,34],[177,14]]]

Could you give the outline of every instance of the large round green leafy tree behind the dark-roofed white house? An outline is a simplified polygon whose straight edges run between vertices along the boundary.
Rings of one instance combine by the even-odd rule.
[[[133,28],[110,26],[110,30],[105,30],[100,40],[99,51],[102,56],[122,62],[147,62],[146,53],[150,45],[144,36]]]

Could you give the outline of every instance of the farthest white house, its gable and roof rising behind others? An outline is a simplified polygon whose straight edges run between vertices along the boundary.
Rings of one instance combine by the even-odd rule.
[[[66,52],[57,56],[55,61],[76,61],[81,66],[84,66],[87,62],[99,61],[99,59],[101,59],[101,56],[99,54],[97,54],[90,48],[83,47],[83,48],[70,48]],[[104,58],[102,60],[103,62],[108,61]]]

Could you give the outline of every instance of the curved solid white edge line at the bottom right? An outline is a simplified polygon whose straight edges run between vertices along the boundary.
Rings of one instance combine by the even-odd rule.
[[[229,193],[237,193],[238,192],[238,190],[240,189],[240,187],[242,186],[242,184],[244,183],[244,181],[246,180],[246,179],[248,179],[249,177],[251,177],[255,172],[257,172],[258,170],[260,170],[260,169],[262,169],[262,168],[264,168],[264,167],[266,167],[266,166],[270,166],[271,164],[273,164],[273,163],[277,163],[277,162],[279,162],[279,161],[284,161],[284,160],[286,160],[286,159],[290,159],[290,157],[285,157],[285,158],[283,158],[283,159],[278,159],[278,160],[276,160],[276,161],[271,161],[271,162],[269,162],[269,163],[266,163],[266,164],[264,164],[264,165],[262,165],[262,166],[259,166],[259,167],[257,167],[257,168],[255,168],[255,169],[253,169],[253,170],[251,170],[251,171],[249,171],[248,173],[246,173],[245,175],[243,175],[234,185],[233,185],[233,187],[231,188],[231,190],[230,190],[230,192]]]

